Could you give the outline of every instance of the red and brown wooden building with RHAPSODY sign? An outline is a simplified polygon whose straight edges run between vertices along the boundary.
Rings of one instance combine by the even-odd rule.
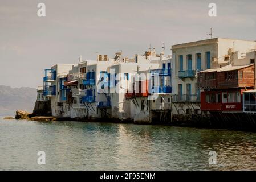
[[[254,88],[254,64],[198,72],[201,110],[242,111],[242,94]]]

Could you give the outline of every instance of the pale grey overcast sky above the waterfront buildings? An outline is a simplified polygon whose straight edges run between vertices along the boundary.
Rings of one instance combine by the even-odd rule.
[[[46,16],[38,17],[38,3]],[[217,16],[208,15],[216,3]],[[255,0],[0,0],[0,85],[43,85],[44,69],[97,53],[170,54],[174,44],[213,37],[256,40]]]

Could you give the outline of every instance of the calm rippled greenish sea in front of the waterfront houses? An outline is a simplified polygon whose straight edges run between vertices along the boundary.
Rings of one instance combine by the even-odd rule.
[[[256,133],[172,126],[2,120],[0,170],[251,170]],[[38,165],[38,151],[46,165]],[[217,164],[209,165],[209,151]]]

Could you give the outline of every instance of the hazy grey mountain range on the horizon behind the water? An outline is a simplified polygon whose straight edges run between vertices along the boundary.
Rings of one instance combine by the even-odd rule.
[[[11,88],[0,85],[0,111],[27,110],[32,111],[36,101],[35,88]]]

